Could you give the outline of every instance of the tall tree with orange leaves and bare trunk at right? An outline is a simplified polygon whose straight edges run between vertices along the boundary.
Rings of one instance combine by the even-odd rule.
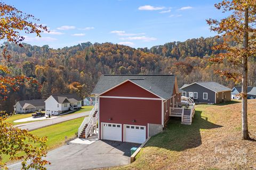
[[[216,70],[217,73],[234,80],[242,81],[242,139],[249,140],[247,124],[247,86],[248,86],[248,58],[256,54],[256,1],[255,0],[223,0],[215,4],[222,12],[230,14],[224,19],[206,20],[211,30],[223,37],[223,43],[213,47],[223,53],[210,59],[215,63],[228,63],[237,67],[236,71]]]

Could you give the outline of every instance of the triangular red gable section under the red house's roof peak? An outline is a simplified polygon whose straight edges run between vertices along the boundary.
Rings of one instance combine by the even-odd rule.
[[[159,98],[151,92],[142,89],[136,84],[127,81],[116,88],[107,91],[102,96],[123,96],[123,97],[146,97],[146,98]]]

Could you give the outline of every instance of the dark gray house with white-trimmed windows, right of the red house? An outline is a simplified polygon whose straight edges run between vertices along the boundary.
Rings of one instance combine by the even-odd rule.
[[[181,87],[181,96],[198,103],[223,103],[231,100],[231,89],[217,82],[194,82]]]

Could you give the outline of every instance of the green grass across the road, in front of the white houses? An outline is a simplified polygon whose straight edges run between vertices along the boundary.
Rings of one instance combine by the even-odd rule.
[[[68,115],[71,115],[71,114],[78,114],[78,113],[82,113],[82,112],[91,111],[92,108],[93,108],[93,106],[82,106],[82,108],[79,109],[78,111],[73,112],[73,113],[70,113],[70,114],[67,114],[67,115],[62,115],[62,116],[68,116]],[[45,111],[43,111],[43,112],[45,112]],[[13,125],[18,125],[18,124],[23,124],[23,123],[29,123],[29,122],[35,122],[35,121],[14,122],[14,121],[19,120],[19,119],[21,119],[21,118],[31,117],[31,114],[33,114],[33,113],[16,114],[16,115],[13,115],[13,116],[8,117],[8,118],[6,119],[6,122],[12,123]],[[42,121],[42,120],[38,120],[38,121]]]

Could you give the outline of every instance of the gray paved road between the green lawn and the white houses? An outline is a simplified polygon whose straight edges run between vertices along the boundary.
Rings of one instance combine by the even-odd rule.
[[[44,128],[46,126],[50,126],[53,124],[61,123],[61,122],[66,122],[69,120],[73,120],[75,118],[79,117],[85,117],[90,114],[91,111],[83,112],[83,113],[77,113],[77,114],[70,114],[67,116],[59,116],[57,118],[51,119],[51,120],[45,120],[45,121],[36,121],[36,122],[30,122],[30,123],[23,123],[23,124],[18,124],[15,125],[15,127],[18,127],[20,129],[26,129],[28,131],[33,131],[39,128]]]

